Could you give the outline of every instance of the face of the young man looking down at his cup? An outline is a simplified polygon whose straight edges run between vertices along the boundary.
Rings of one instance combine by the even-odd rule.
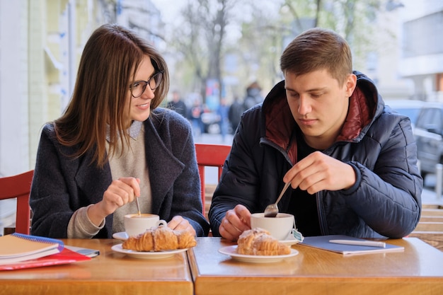
[[[326,69],[300,76],[284,73],[287,102],[309,146],[326,149],[345,122],[356,77],[350,74],[340,85]]]

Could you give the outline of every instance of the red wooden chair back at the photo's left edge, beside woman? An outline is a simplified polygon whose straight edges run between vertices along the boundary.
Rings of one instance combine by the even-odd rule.
[[[16,232],[29,234],[29,193],[34,170],[0,178],[0,199],[17,198]]]

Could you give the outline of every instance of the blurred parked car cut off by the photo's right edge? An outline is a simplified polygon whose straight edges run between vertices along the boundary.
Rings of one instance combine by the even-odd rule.
[[[420,173],[435,173],[443,163],[443,103],[427,103],[418,115],[414,129]]]

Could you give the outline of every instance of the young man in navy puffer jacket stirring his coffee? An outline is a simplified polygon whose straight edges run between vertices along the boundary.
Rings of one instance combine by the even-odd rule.
[[[236,240],[289,181],[278,207],[304,236],[408,235],[422,192],[408,117],[384,108],[330,30],[301,33],[280,67],[284,81],[244,113],[235,134],[209,210],[213,235]]]

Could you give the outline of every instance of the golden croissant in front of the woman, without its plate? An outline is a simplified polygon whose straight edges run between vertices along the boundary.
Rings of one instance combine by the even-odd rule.
[[[122,244],[123,249],[136,251],[162,251],[186,249],[197,245],[189,231],[174,231],[168,226],[152,227],[138,236],[127,238]]]

